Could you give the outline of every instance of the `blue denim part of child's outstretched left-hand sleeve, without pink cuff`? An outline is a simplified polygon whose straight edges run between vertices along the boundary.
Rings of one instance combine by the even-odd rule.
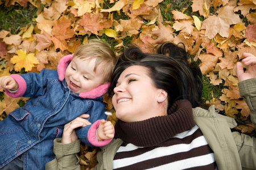
[[[47,84],[57,79],[57,70],[43,69],[40,73],[31,72],[20,74],[26,82],[26,91],[23,97],[42,96],[46,92]]]

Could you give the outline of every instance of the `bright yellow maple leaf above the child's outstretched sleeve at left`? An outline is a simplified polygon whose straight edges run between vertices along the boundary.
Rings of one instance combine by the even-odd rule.
[[[26,50],[19,49],[16,51],[18,56],[11,58],[11,63],[15,64],[14,70],[20,71],[23,67],[25,71],[31,71],[34,64],[39,64],[38,58],[35,57],[35,53],[27,54]]]

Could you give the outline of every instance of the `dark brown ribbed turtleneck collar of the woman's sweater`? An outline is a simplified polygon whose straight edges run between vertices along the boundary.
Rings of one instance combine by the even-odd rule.
[[[192,106],[188,100],[176,101],[167,116],[152,117],[138,122],[118,120],[115,138],[139,147],[149,147],[167,141],[176,134],[195,126]]]

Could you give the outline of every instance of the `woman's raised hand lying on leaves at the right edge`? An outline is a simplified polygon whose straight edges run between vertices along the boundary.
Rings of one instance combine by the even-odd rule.
[[[256,78],[256,57],[251,53],[243,53],[242,62],[248,66],[246,73],[243,71],[243,65],[241,62],[237,62],[237,77],[238,81]]]

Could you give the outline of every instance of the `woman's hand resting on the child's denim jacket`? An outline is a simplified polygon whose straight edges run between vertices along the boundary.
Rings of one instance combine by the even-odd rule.
[[[89,114],[81,114],[81,116],[65,124],[61,143],[68,144],[76,141],[78,138],[77,138],[75,129],[79,127],[91,125],[91,123],[88,120],[84,119],[88,117],[89,117]]]

